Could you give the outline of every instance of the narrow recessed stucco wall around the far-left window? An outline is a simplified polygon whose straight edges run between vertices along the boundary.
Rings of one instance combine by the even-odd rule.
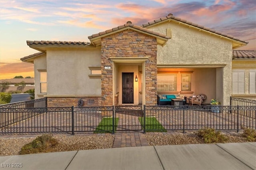
[[[46,54],[34,59],[34,76],[35,76],[35,99],[43,98],[45,94],[40,94],[40,71],[47,70]]]

